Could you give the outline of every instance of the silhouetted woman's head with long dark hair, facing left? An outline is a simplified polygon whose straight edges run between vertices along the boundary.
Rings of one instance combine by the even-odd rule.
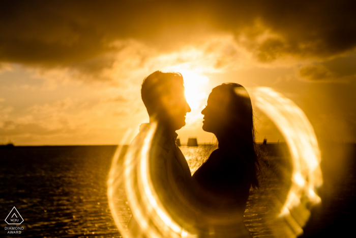
[[[216,136],[219,148],[229,148],[244,159],[251,170],[252,187],[258,188],[258,148],[251,99],[246,89],[235,83],[215,87],[201,114],[203,130]]]

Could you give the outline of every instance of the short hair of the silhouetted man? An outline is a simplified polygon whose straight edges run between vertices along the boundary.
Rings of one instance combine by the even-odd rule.
[[[145,77],[141,87],[141,98],[150,116],[162,109],[161,99],[170,96],[176,85],[184,85],[180,73],[156,71]]]

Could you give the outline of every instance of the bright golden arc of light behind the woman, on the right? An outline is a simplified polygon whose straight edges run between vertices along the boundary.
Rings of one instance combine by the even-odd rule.
[[[310,212],[308,205],[321,201],[315,191],[322,185],[320,169],[320,150],[313,126],[304,112],[290,99],[275,92],[271,88],[259,87],[253,90],[256,106],[265,113],[279,128],[284,136],[293,164],[292,185],[284,202],[279,217],[291,225],[291,211],[298,210],[300,228],[295,230],[295,236],[303,230]]]

